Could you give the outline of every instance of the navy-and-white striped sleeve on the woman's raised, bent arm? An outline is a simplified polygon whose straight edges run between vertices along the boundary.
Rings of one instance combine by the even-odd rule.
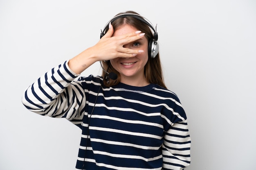
[[[22,103],[27,109],[43,116],[66,118],[81,124],[85,106],[85,92],[73,81],[78,75],[67,65],[53,68],[27,88]]]

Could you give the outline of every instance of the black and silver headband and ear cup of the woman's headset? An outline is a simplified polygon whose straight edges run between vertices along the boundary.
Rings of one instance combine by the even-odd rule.
[[[151,24],[151,22],[149,20],[147,20],[145,17],[142,17],[139,14],[123,13],[123,14],[120,14],[120,15],[116,15],[115,17],[113,17],[111,20],[108,21],[108,23],[104,27],[103,31],[101,30],[100,38],[102,38],[105,35],[104,31],[106,31],[106,29],[108,28],[108,25],[109,25],[110,22],[113,22],[113,21],[117,20],[118,18],[122,18],[122,17],[133,17],[133,18],[136,18],[137,20],[140,20],[141,22],[144,22],[145,24],[147,24],[154,31],[153,38],[148,40],[148,57],[149,58],[155,58],[156,55],[159,52],[159,44],[157,42],[158,34],[156,32],[157,26],[155,26],[155,29],[154,29],[153,24]]]

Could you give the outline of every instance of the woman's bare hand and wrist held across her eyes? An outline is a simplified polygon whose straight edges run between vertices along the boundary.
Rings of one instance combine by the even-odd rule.
[[[68,62],[70,69],[76,74],[80,74],[97,61],[107,61],[118,57],[134,57],[141,53],[139,50],[124,48],[124,45],[144,37],[145,33],[135,31],[124,35],[112,36],[113,33],[114,29],[110,23],[108,32],[98,41],[97,44],[70,59]]]

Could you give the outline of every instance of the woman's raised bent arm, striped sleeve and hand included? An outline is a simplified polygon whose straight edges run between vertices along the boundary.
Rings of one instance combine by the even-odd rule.
[[[144,36],[144,33],[136,31],[113,37],[111,24],[109,28],[97,44],[53,68],[29,86],[22,96],[25,107],[41,115],[82,119],[85,89],[73,80],[96,61],[134,57],[139,50],[124,48],[124,45]]]

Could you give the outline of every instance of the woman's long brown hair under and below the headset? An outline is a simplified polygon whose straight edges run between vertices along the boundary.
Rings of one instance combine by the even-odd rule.
[[[135,13],[138,14],[134,11],[126,11],[124,13]],[[118,13],[117,15],[120,15],[123,13]],[[148,41],[150,39],[153,38],[153,33],[151,31],[151,28],[144,22],[141,22],[140,20],[134,18],[134,17],[121,17],[118,18],[117,20],[111,22],[114,31],[117,30],[119,27],[123,26],[124,24],[128,24],[134,28],[137,28],[138,30],[140,30],[142,33],[145,33],[145,37],[146,39],[148,39]],[[105,33],[108,31],[108,28],[106,28]],[[120,74],[119,72],[117,72],[117,70],[115,70],[115,68],[112,67],[110,61],[101,61],[102,66],[105,70],[108,70],[108,72],[114,72],[115,74],[117,74],[117,79],[116,80],[112,80],[112,79],[104,79],[103,83],[105,86],[110,87],[113,85],[117,85],[118,83],[120,83]],[[106,72],[102,71],[102,77],[106,76]],[[163,78],[163,74],[162,74],[162,66],[161,66],[161,62],[160,62],[160,58],[159,58],[159,52],[156,55],[155,58],[151,58],[148,57],[148,62],[146,63],[145,67],[144,67],[144,75],[146,80],[149,83],[152,84],[157,84],[159,86],[162,86],[164,88],[166,88],[166,85],[164,84],[164,78]]]

